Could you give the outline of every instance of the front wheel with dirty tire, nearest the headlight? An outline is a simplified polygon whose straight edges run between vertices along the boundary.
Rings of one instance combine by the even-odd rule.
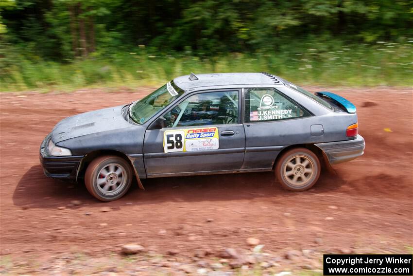
[[[87,166],[85,185],[98,200],[109,202],[121,198],[131,186],[132,168],[119,156],[104,155]]]

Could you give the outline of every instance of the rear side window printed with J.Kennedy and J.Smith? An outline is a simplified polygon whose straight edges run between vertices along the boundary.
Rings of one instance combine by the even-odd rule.
[[[274,88],[253,88],[245,93],[245,122],[277,121],[310,114]]]

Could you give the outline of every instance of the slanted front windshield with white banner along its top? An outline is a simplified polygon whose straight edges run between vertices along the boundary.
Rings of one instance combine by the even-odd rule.
[[[135,123],[142,125],[183,92],[172,80],[143,99],[132,103],[129,107],[129,116]]]

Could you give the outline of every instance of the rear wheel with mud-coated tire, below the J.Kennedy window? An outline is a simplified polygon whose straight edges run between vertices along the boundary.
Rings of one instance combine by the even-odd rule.
[[[287,190],[305,191],[320,177],[320,160],[311,150],[303,147],[284,152],[275,166],[277,181]]]

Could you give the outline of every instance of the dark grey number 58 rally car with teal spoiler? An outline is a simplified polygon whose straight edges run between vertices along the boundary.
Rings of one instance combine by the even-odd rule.
[[[313,186],[322,164],[363,154],[356,107],[267,73],[177,77],[141,100],[59,122],[40,147],[46,176],[113,201],[132,179],[274,171],[286,189]]]

